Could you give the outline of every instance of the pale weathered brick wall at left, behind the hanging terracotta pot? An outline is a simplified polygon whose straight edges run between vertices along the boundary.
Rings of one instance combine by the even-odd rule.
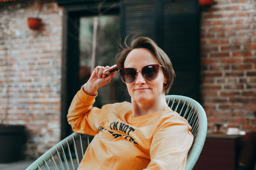
[[[38,157],[60,141],[62,9],[47,1],[43,25],[29,29],[39,1],[0,10],[0,120],[26,125],[27,157]]]

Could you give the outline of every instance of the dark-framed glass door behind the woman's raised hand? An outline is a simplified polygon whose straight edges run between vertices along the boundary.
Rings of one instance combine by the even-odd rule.
[[[95,64],[92,66],[93,20],[97,18],[97,39]],[[63,16],[63,62],[61,86],[61,139],[72,132],[67,123],[67,112],[76,92],[86,83],[95,66],[112,66],[120,39],[119,8],[116,3],[98,3],[83,6],[65,6]],[[94,25],[95,26],[95,25]],[[117,75],[116,75],[117,76]],[[115,103],[120,101],[118,86],[122,83],[118,77],[111,85],[98,91],[97,103]],[[104,94],[104,95],[103,95]]]

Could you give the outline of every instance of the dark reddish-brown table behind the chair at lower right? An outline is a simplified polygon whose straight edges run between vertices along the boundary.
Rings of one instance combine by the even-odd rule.
[[[193,170],[235,170],[241,135],[207,134],[204,148]]]

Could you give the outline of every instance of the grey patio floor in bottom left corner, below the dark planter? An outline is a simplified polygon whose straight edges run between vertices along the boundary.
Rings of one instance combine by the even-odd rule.
[[[24,170],[30,164],[32,164],[34,160],[19,160],[17,162],[12,163],[0,163],[1,170]]]

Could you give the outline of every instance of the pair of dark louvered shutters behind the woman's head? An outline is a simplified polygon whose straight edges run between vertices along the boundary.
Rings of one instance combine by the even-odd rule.
[[[123,1],[122,36],[154,39],[170,57],[177,78],[169,94],[200,101],[200,39],[197,0]]]

